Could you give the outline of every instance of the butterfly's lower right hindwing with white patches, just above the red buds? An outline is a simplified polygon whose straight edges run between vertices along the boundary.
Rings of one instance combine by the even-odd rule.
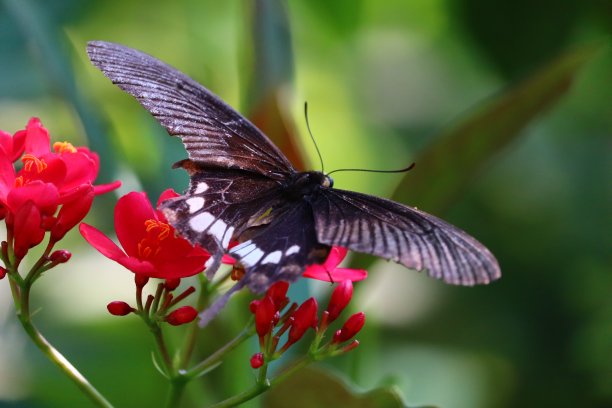
[[[256,293],[280,280],[295,281],[307,265],[325,261],[330,249],[317,241],[307,202],[291,203],[272,217],[269,225],[229,251],[246,270],[243,284]]]

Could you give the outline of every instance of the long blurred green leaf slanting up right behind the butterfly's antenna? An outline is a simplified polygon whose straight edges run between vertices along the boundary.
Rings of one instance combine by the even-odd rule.
[[[599,49],[591,45],[565,53],[436,137],[417,158],[415,170],[403,178],[393,199],[427,212],[444,211],[484,164],[565,95]]]

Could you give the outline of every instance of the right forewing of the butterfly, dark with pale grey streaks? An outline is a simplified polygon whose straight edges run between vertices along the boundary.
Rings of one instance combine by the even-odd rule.
[[[455,285],[500,277],[480,242],[433,215],[396,202],[337,189],[313,201],[319,242],[380,256]]]

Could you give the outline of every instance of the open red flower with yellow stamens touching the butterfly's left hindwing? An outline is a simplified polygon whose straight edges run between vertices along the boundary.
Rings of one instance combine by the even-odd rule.
[[[166,190],[160,200],[172,196],[176,193]],[[204,269],[210,257],[203,249],[175,234],[174,228],[161,212],[153,209],[144,193],[129,193],[121,197],[115,207],[115,232],[123,250],[90,225],[81,224],[79,230],[102,255],[136,274],[152,278],[195,275]]]

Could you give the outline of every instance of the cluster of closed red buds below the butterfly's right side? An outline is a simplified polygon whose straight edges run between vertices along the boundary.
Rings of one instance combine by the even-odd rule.
[[[309,328],[316,332],[311,352],[324,356],[344,353],[357,347],[357,340],[341,347],[341,343],[351,340],[362,329],[365,323],[365,314],[356,313],[348,318],[341,329],[336,331],[333,339],[319,347],[329,324],[338,318],[346,308],[353,295],[353,284],[350,280],[342,281],[332,293],[327,310],[318,319],[318,305],[315,298],[309,298],[299,307],[293,303],[281,315],[282,310],[289,304],[287,297],[287,282],[277,282],[268,289],[262,299],[254,300],[250,304],[251,313],[255,315],[255,330],[259,336],[261,352],[251,358],[251,367],[259,368],[266,362],[280,357],[289,347],[299,341]],[[276,332],[274,329],[280,327]],[[287,333],[285,344],[278,349],[281,336]]]

